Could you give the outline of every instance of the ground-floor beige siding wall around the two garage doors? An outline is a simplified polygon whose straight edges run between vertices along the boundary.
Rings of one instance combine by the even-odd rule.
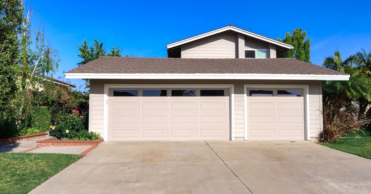
[[[322,82],[299,80],[95,80],[90,81],[89,131],[103,133],[104,84],[234,84],[234,137],[244,138],[243,84],[308,84],[311,140],[322,130]]]

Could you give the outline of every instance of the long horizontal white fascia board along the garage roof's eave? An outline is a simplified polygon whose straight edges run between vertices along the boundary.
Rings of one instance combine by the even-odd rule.
[[[149,80],[349,80],[350,75],[302,74],[108,74],[66,73],[69,79],[149,79]]]

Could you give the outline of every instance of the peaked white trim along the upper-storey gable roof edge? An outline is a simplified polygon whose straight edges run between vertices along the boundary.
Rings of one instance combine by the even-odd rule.
[[[269,42],[269,43],[272,43],[272,44],[275,44],[275,45],[278,45],[278,46],[282,46],[282,47],[287,48],[287,49],[293,49],[294,48],[292,45],[289,45],[289,44],[286,44],[286,43],[283,43],[283,42],[280,42],[280,41],[276,41],[275,39],[267,38],[265,36],[258,35],[256,33],[252,33],[252,32],[249,32],[249,31],[246,31],[246,30],[234,27],[234,26],[226,26],[226,27],[219,28],[219,29],[216,29],[216,30],[213,30],[213,31],[210,31],[210,32],[206,32],[206,33],[203,33],[203,34],[200,34],[200,35],[197,35],[197,36],[192,36],[191,38],[187,38],[187,39],[184,39],[184,40],[181,40],[181,41],[178,41],[178,42],[170,43],[170,44],[166,45],[166,47],[167,47],[167,49],[173,48],[175,46],[183,45],[185,43],[196,41],[198,39],[205,38],[207,36],[211,36],[211,35],[214,35],[214,34],[217,34],[217,33],[220,33],[220,32],[224,32],[224,31],[227,31],[227,30],[233,30],[234,32],[239,32],[239,33],[242,33],[246,36],[250,36],[250,37],[253,37],[253,38],[256,38],[256,39],[259,39],[259,40],[262,40],[262,41],[266,41],[266,42]]]

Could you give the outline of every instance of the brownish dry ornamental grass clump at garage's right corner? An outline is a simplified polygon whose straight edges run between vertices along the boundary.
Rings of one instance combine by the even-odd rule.
[[[322,143],[334,142],[346,134],[364,130],[369,119],[352,116],[348,104],[342,104],[341,108],[333,105],[334,101],[328,101],[323,106],[324,127],[319,133],[318,140]]]

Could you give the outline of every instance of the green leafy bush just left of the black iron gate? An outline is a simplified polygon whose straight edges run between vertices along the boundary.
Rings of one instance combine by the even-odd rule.
[[[45,106],[32,108],[31,127],[39,129],[40,132],[47,132],[50,130],[50,113],[51,109]]]

